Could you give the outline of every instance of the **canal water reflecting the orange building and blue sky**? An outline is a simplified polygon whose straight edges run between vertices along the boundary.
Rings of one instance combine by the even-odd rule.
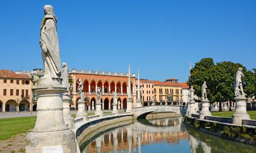
[[[256,146],[221,139],[183,124],[182,116],[150,117],[104,126],[83,138],[85,152],[256,152]]]

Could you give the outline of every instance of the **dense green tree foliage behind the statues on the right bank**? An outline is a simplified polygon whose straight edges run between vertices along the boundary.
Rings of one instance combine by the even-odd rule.
[[[238,68],[243,68],[245,78],[243,79],[244,92],[248,96],[256,95],[256,69],[254,72],[247,71],[240,63],[230,61],[214,64],[212,58],[201,59],[190,70],[188,85],[193,86],[195,94],[201,95],[201,86],[204,81],[207,84],[207,98],[211,103],[232,100],[234,98],[234,77]]]

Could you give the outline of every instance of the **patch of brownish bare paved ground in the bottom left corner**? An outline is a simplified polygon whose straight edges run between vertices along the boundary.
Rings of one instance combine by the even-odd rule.
[[[0,140],[0,152],[24,152],[26,148],[26,136],[27,133],[20,133],[7,140]]]

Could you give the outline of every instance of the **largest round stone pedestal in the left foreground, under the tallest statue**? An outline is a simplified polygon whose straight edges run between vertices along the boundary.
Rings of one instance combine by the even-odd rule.
[[[27,135],[27,153],[39,153],[45,147],[60,146],[64,153],[76,153],[75,133],[63,119],[61,80],[39,79],[33,92],[37,95],[35,127]]]

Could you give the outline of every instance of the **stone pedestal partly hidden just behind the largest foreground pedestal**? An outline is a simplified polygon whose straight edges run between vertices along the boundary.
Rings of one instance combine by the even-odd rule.
[[[70,102],[71,98],[68,96],[63,96],[63,118],[66,124],[68,124],[69,129],[75,128],[74,118],[70,115]]]

